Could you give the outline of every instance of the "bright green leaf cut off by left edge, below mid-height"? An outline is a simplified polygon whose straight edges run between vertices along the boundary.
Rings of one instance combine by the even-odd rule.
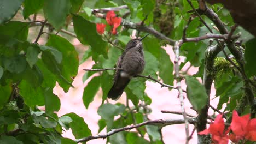
[[[0,110],[2,110],[4,105],[8,102],[12,90],[13,87],[11,86],[10,82],[8,82],[5,86],[0,85]]]

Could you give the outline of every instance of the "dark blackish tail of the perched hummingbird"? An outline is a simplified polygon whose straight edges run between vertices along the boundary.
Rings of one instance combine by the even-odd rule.
[[[125,87],[128,85],[131,79],[128,77],[119,77],[117,81],[114,82],[112,88],[108,92],[108,98],[112,100],[118,100],[122,93],[124,92]]]

